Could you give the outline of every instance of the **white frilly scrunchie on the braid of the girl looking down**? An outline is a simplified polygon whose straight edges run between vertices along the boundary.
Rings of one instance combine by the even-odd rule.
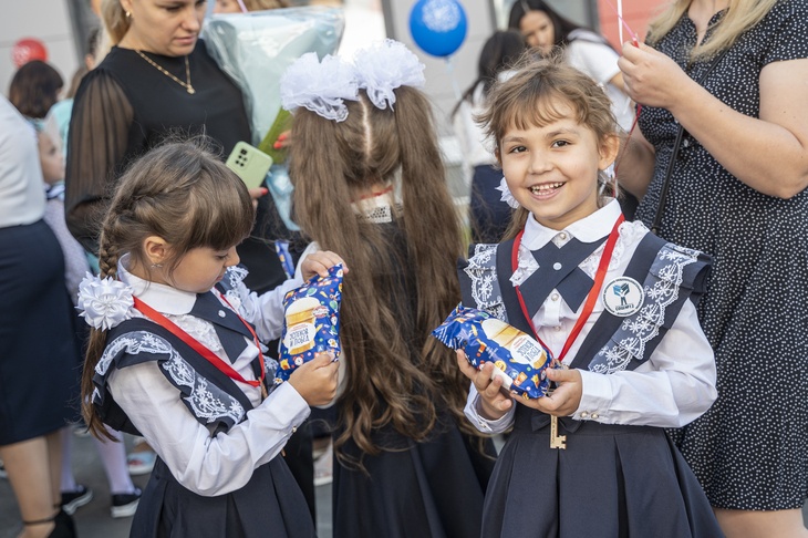
[[[132,288],[111,277],[100,279],[86,273],[79,286],[76,310],[90,327],[107,331],[132,318]]]

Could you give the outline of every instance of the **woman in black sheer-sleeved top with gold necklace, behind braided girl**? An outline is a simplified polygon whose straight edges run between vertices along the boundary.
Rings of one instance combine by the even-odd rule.
[[[198,42],[206,10],[200,0],[103,1],[113,46],[79,87],[68,146],[68,226],[90,251],[112,185],[160,139],[206,133],[222,158],[250,141],[241,92]],[[256,228],[238,251],[250,270],[245,282],[260,293],[286,277],[272,242],[280,220],[270,197],[253,195]]]

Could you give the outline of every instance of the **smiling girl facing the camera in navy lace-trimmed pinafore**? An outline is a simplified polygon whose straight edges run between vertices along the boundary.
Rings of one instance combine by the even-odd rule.
[[[493,363],[466,415],[514,427],[486,492],[481,536],[721,536],[693,473],[663,428],[716,397],[696,319],[708,259],[624,221],[601,195],[620,138],[610,101],[580,71],[546,60],[494,87],[481,115],[516,207],[499,245],[459,271],[464,303],[532,334],[566,369],[555,391],[514,400]],[[581,517],[581,513],[586,517]]]

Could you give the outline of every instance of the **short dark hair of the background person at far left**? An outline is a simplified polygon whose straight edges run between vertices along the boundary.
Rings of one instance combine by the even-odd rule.
[[[49,63],[32,60],[22,65],[9,86],[9,101],[23,116],[41,120],[59,101],[62,75]]]

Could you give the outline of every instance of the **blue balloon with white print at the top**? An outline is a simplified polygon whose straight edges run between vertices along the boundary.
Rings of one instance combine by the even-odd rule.
[[[418,0],[410,12],[410,33],[433,56],[448,56],[466,39],[466,11],[457,0]]]

